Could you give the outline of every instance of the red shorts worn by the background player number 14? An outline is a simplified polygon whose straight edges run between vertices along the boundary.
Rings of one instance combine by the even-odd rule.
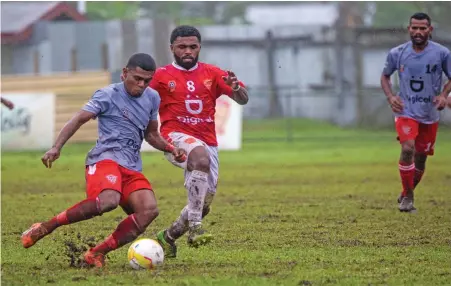
[[[438,122],[424,124],[412,118],[395,118],[398,140],[402,144],[415,140],[415,151],[425,155],[434,155],[435,139],[437,138]]]

